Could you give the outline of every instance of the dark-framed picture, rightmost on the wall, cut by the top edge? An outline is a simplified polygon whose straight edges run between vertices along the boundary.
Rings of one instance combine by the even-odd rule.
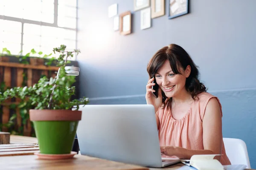
[[[169,19],[189,13],[189,0],[169,0]]]

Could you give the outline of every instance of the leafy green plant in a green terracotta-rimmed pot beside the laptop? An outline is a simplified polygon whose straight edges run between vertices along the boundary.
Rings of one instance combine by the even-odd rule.
[[[60,53],[57,77],[42,77],[32,87],[15,87],[0,94],[0,102],[7,98],[20,98],[35,109],[29,110],[29,118],[35,127],[40,154],[70,154],[76,135],[76,128],[81,120],[79,105],[86,105],[88,98],[73,99],[75,74],[79,70],[70,70],[66,66],[68,57],[79,50],[65,51],[66,46],[53,48]],[[77,69],[77,68],[76,68]],[[71,76],[70,76],[71,75]]]

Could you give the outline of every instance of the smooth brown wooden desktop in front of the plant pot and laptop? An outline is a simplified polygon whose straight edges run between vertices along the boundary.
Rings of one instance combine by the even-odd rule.
[[[165,169],[176,170],[183,165],[175,164]],[[0,157],[1,169],[40,169],[40,170],[157,170],[121,162],[108,161],[90,156],[75,155],[73,159],[41,160],[35,155]]]

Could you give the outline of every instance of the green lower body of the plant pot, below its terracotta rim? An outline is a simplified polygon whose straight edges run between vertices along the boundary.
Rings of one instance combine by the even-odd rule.
[[[33,121],[40,153],[70,153],[79,121]]]

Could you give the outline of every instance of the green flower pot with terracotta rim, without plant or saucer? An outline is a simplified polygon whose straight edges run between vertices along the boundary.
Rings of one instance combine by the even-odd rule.
[[[81,115],[81,111],[71,110],[29,110],[40,153],[70,153]]]

